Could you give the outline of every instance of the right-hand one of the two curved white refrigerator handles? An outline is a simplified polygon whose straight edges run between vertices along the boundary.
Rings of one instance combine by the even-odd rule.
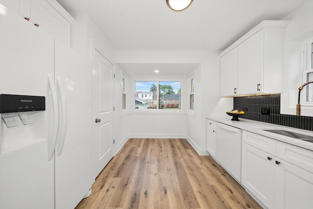
[[[63,146],[65,143],[65,136],[67,133],[67,103],[66,103],[66,97],[65,97],[65,91],[61,82],[61,79],[59,77],[57,77],[57,87],[59,88],[60,91],[60,97],[61,97],[61,111],[62,112],[62,116],[60,116],[61,119],[61,134],[60,134],[60,140],[58,143],[58,149],[57,149],[57,153],[58,156],[60,156],[62,154],[62,150],[63,150]]]

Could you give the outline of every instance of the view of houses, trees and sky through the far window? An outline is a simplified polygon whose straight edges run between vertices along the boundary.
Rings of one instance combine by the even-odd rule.
[[[135,109],[180,109],[180,81],[136,81]]]

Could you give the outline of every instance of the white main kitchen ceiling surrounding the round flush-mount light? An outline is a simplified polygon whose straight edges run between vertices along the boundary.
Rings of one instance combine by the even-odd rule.
[[[221,51],[261,21],[281,20],[309,0],[194,0],[182,12],[165,0],[57,1],[68,12],[86,12],[115,50]]]

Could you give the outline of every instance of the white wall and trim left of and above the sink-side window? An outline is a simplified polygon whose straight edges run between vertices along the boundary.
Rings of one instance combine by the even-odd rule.
[[[302,80],[301,42],[313,36],[312,11],[313,1],[311,0],[284,18],[291,22],[286,28],[285,38],[284,79],[288,93],[281,94],[281,114],[296,114],[298,88],[305,82]],[[301,94],[303,96],[303,91]],[[301,115],[313,116],[313,108],[302,106]]]

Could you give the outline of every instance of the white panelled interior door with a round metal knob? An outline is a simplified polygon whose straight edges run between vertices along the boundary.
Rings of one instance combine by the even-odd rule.
[[[114,66],[94,49],[92,79],[93,103],[93,177],[113,157],[113,76]]]

